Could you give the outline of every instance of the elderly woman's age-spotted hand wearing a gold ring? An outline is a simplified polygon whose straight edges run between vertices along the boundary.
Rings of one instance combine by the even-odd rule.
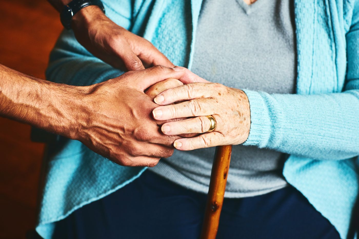
[[[217,145],[242,144],[247,140],[250,125],[250,107],[247,95],[239,89],[219,83],[190,83],[167,89],[154,99],[159,105],[153,110],[156,120],[192,117],[162,125],[165,135],[202,133],[187,139],[177,139],[174,147],[179,150],[193,150]],[[169,105],[173,102],[185,102]],[[212,116],[216,128],[208,132]],[[208,132],[208,133],[206,133]]]

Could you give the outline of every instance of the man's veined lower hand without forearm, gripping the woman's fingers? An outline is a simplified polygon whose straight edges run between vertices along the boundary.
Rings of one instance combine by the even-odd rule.
[[[153,119],[151,112],[158,105],[144,90],[168,78],[180,79],[184,74],[183,68],[156,66],[85,86],[87,93],[80,97],[83,107],[74,108],[75,128],[68,137],[117,164],[153,167],[160,158],[173,154],[173,142],[179,136],[160,132],[167,121]]]

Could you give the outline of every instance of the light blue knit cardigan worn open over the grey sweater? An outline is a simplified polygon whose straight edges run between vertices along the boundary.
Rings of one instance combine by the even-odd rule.
[[[191,67],[201,0],[105,0],[104,5],[115,23],[149,39],[175,65]],[[341,238],[349,238],[359,181],[359,2],[295,0],[294,6],[297,94],[245,90],[251,130],[244,144],[290,154],[286,180],[330,220]],[[61,34],[46,72],[48,79],[70,85],[120,74],[81,47],[71,31]],[[53,222],[145,170],[115,165],[63,137],[55,148],[44,163],[37,226],[44,238],[51,237]]]

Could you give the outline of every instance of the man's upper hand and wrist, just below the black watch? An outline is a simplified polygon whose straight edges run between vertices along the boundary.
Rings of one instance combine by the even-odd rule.
[[[75,37],[89,52],[121,70],[150,66],[173,67],[152,43],[112,22],[97,6],[88,6],[72,19]]]

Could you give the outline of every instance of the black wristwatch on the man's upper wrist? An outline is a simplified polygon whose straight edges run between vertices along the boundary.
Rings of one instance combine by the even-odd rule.
[[[91,5],[98,6],[105,13],[105,8],[100,0],[72,0],[68,5],[64,6],[64,10],[60,13],[62,25],[66,29],[71,29],[72,17],[81,9]]]

